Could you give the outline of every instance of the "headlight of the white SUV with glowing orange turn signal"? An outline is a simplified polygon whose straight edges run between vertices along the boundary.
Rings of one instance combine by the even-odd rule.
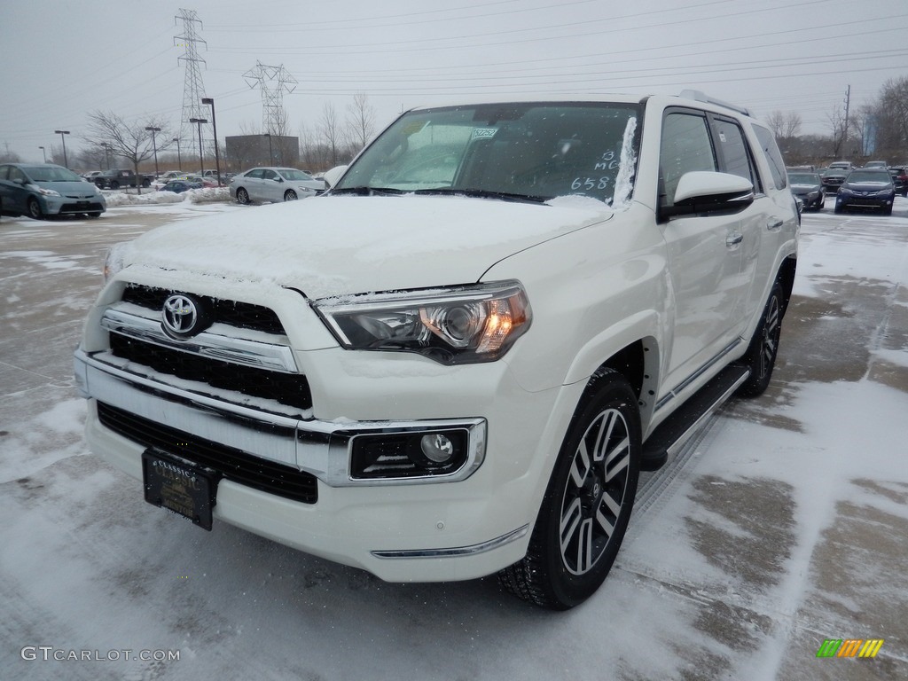
[[[441,364],[494,361],[529,328],[518,281],[313,301],[348,350],[417,352]]]

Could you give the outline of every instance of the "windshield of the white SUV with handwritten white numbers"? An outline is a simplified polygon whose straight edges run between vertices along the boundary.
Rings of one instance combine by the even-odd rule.
[[[548,200],[630,197],[637,104],[481,104],[400,117],[339,190],[464,192]]]

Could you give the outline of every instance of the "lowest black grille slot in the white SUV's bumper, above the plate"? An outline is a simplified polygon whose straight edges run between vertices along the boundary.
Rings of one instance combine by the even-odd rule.
[[[98,402],[98,419],[104,427],[126,439],[144,447],[163,449],[199,466],[217,470],[225,479],[246,487],[304,504],[314,504],[319,500],[318,482],[311,473],[260,459],[241,449],[226,447],[210,439],[143,419],[103,402]]]

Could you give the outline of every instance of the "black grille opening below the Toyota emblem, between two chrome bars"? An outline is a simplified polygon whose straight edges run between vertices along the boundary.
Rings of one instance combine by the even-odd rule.
[[[135,341],[114,332],[110,334],[110,341],[114,357],[133,361],[179,379],[201,381],[222,390],[237,390],[244,395],[276,400],[298,409],[307,410],[312,406],[309,381],[301,374],[213,360],[153,343]]]

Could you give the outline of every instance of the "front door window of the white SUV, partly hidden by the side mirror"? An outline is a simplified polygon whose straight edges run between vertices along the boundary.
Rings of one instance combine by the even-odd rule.
[[[706,116],[671,112],[662,123],[662,204],[674,205],[681,175],[692,171],[716,171],[716,153],[706,128]]]

